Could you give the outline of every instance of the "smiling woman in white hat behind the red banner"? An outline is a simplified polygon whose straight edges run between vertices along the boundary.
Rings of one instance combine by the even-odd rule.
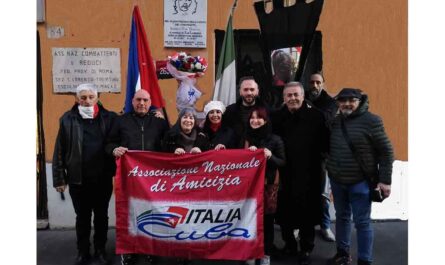
[[[225,110],[221,101],[210,101],[204,107],[206,119],[202,131],[209,137],[210,149],[231,149],[238,143],[233,129],[222,125]]]

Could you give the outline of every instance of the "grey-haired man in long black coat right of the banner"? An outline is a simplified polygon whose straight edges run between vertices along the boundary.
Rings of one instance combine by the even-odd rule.
[[[323,114],[304,100],[301,83],[286,84],[283,101],[285,106],[272,115],[274,132],[286,148],[276,218],[286,242],[285,251],[290,254],[298,251],[293,230],[299,229],[299,263],[309,264],[314,226],[321,220],[321,163],[327,151],[328,130]]]

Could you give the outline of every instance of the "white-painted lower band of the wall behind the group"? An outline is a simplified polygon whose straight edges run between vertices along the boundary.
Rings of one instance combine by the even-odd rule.
[[[47,190],[48,190],[48,222],[51,229],[73,228],[75,214],[68,190],[65,191],[65,200],[53,188],[52,164],[46,164]],[[372,219],[401,219],[408,220],[408,162],[395,161],[393,164],[391,196],[383,203],[373,203]],[[108,208],[109,225],[114,227],[116,215],[114,208],[114,193],[111,196]],[[331,205],[331,218],[335,219]]]

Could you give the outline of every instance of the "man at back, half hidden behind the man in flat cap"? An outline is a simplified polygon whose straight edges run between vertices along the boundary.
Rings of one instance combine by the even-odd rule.
[[[321,72],[311,75],[308,91],[309,103],[319,109],[325,117],[328,128],[337,113],[337,104],[335,100],[326,92],[325,79]],[[323,161],[322,194],[323,194],[323,214],[321,216],[320,234],[322,238],[329,242],[335,241],[335,235],[331,230],[331,216],[329,206],[331,202],[331,185],[326,172],[326,163]]]

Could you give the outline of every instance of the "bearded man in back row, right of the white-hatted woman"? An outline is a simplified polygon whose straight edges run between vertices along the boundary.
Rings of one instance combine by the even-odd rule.
[[[235,148],[244,147],[242,139],[246,133],[247,120],[252,108],[255,106],[265,106],[258,97],[258,84],[255,82],[253,76],[241,77],[239,86],[240,98],[236,103],[227,106],[222,119],[223,127],[229,127],[235,131]]]

